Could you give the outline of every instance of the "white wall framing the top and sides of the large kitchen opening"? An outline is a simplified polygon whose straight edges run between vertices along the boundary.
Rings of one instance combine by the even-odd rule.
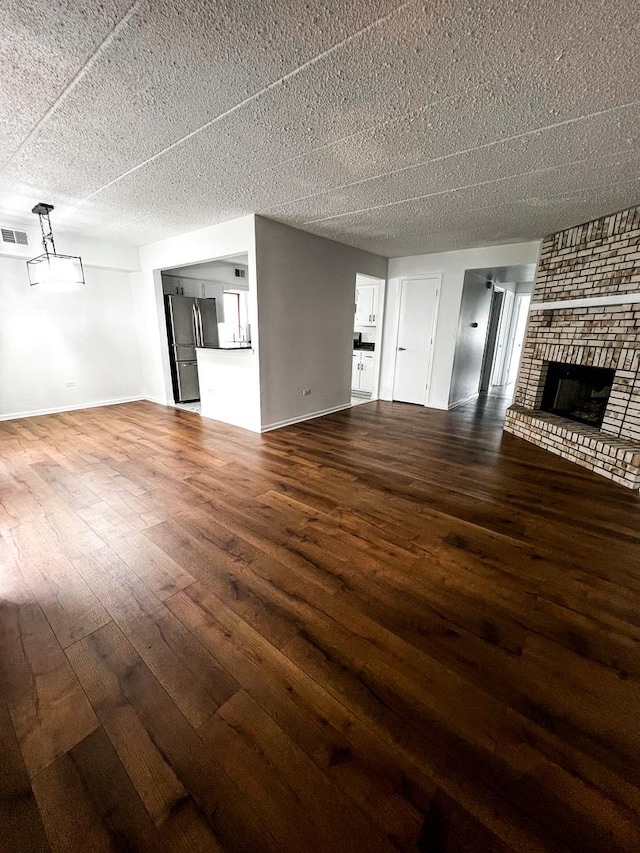
[[[173,402],[169,350],[162,300],[161,271],[246,253],[249,277],[249,317],[252,337],[257,344],[257,300],[255,287],[255,217],[243,216],[198,231],[190,231],[150,243],[140,248],[139,275],[134,279],[136,321],[142,353],[143,393],[150,400]],[[258,376],[258,359],[252,361]],[[258,382],[254,383],[258,388]],[[259,393],[259,392],[256,392]],[[255,401],[256,411],[259,400]],[[241,424],[247,429],[259,429],[259,424]]]

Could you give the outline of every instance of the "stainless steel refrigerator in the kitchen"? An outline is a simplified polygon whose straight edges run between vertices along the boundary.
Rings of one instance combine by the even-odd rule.
[[[218,346],[215,299],[165,296],[173,396],[176,403],[200,399],[196,347]]]

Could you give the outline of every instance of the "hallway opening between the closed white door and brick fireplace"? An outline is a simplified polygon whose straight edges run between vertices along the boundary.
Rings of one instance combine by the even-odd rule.
[[[513,397],[534,276],[534,264],[465,272],[450,409],[479,394]]]

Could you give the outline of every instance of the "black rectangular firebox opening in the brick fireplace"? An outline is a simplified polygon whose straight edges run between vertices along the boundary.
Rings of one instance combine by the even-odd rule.
[[[583,424],[601,427],[614,370],[549,362],[541,409]]]

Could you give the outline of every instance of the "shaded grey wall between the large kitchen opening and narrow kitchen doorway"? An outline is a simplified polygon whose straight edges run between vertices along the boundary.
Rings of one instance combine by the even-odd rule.
[[[386,258],[260,216],[256,255],[262,428],[348,406],[356,274]]]

